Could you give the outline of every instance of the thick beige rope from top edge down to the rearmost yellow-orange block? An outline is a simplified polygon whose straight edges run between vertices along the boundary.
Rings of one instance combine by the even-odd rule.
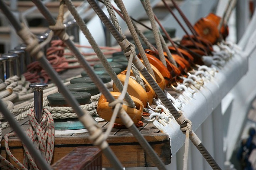
[[[148,72],[149,72],[154,78],[156,78],[155,75],[154,75],[153,69],[151,68],[150,63],[149,63],[149,61],[148,61],[148,58],[147,58],[147,56],[146,56],[146,54],[145,54],[145,51],[144,51],[144,49],[143,49],[143,47],[142,47],[142,45],[141,45],[141,42],[140,42],[140,40],[139,40],[139,38],[138,38],[138,35],[137,35],[137,33],[136,33],[136,30],[135,30],[135,28],[134,28],[134,26],[133,26],[133,24],[132,24],[132,22],[131,22],[131,18],[130,18],[129,14],[128,14],[128,12],[127,12],[125,6],[124,6],[124,3],[122,2],[122,0],[114,0],[114,1],[115,1],[115,3],[118,5],[118,7],[120,8],[120,10],[122,11],[122,15],[124,16],[124,20],[126,21],[126,24],[127,24],[128,28],[129,28],[129,30],[130,30],[131,35],[132,35],[132,38],[134,39],[134,42],[135,42],[135,44],[136,44],[136,47],[138,48],[138,51],[139,51],[139,53],[140,53],[140,55],[141,55],[141,58],[142,58],[142,60],[143,60],[143,62],[144,62],[144,64],[145,64],[145,66],[146,66]]]

